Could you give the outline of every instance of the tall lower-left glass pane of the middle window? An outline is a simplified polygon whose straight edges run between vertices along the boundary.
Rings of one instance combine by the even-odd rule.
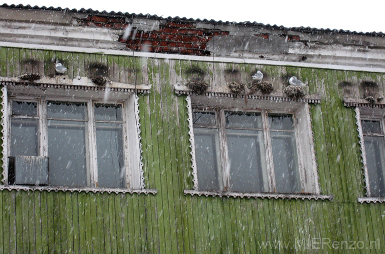
[[[219,132],[194,128],[199,190],[222,190]]]

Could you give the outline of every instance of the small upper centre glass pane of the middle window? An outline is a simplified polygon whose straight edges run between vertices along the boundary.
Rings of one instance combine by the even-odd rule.
[[[226,128],[262,129],[260,113],[226,112]]]

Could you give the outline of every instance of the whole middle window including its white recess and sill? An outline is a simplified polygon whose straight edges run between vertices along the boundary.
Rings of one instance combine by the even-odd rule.
[[[307,103],[280,109],[255,100],[246,108],[234,99],[202,106],[208,99],[191,98],[194,190],[185,194],[331,198],[320,195]]]

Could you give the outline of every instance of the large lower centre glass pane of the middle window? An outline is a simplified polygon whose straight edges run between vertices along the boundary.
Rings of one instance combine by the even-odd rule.
[[[268,192],[263,131],[227,130],[230,190]]]

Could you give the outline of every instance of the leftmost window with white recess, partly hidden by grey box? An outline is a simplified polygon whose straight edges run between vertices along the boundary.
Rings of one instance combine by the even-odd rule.
[[[20,85],[5,92],[3,156],[47,157],[49,187],[144,187],[134,93]]]

